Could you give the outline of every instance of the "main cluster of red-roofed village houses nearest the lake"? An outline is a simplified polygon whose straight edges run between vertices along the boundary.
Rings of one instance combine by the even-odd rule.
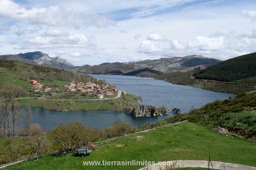
[[[99,84],[87,82],[71,82],[67,86],[65,86],[69,92],[81,92],[81,93],[86,93],[88,95],[94,95],[97,96],[99,99],[104,98],[104,94],[107,96],[111,96],[112,94],[117,92],[117,89],[115,87],[110,86],[109,84],[105,84],[100,86]]]

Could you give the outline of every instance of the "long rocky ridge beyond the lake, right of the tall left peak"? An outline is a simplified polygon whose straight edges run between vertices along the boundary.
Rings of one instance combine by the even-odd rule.
[[[102,63],[95,66],[84,65],[77,67],[78,73],[90,74],[122,74],[129,76],[137,76],[137,73],[146,74],[161,74],[176,71],[189,71],[194,68],[207,68],[221,62],[218,59],[206,58],[199,55],[185,57],[171,57],[160,59],[146,59],[137,62],[126,63]],[[132,74],[134,73],[134,74]],[[144,77],[145,77],[144,76]],[[146,76],[150,77],[150,76]]]

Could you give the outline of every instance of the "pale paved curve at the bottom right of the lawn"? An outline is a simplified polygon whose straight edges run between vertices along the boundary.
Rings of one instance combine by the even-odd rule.
[[[167,161],[167,162],[159,162],[159,164],[147,166],[141,168],[139,170],[159,170],[164,169],[165,164],[168,163],[169,165],[175,164],[175,167],[179,168],[208,168],[208,161],[203,160],[179,160],[179,161]],[[213,164],[214,169],[225,169],[225,170],[255,170],[256,167],[252,166],[245,166],[243,164],[235,164],[235,163],[225,163],[225,162],[218,162],[218,161],[211,161]],[[211,165],[210,165],[211,169]]]

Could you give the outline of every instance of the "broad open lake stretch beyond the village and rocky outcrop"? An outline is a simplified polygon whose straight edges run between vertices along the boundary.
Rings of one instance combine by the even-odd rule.
[[[232,94],[216,93],[204,89],[171,84],[153,78],[133,76],[92,75],[115,84],[118,89],[142,97],[142,103],[165,106],[169,109],[180,108],[188,112],[191,107],[200,108],[217,99],[234,97]]]

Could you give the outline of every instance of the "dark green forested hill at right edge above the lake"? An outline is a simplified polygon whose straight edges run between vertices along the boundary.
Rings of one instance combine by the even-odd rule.
[[[235,81],[256,76],[256,53],[228,59],[195,74],[198,79]]]

